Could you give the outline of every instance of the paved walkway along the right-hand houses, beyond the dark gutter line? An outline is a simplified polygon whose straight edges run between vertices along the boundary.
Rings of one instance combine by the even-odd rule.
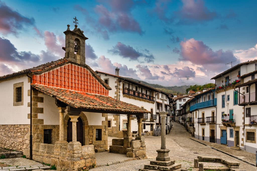
[[[191,137],[192,139],[195,139],[199,142],[202,142],[210,147],[214,147],[218,150],[221,150],[223,152],[226,152],[228,154],[231,154],[233,156],[236,156],[240,159],[243,159],[243,160],[246,160],[247,162],[249,163],[252,163],[252,164],[255,164],[256,161],[255,161],[255,154],[253,153],[249,153],[249,152],[246,152],[244,150],[235,150],[235,149],[232,149],[226,145],[223,145],[223,144],[216,144],[216,143],[210,143],[210,142],[207,142],[207,141],[203,141],[203,140],[200,140],[200,139],[196,139],[194,137]]]

